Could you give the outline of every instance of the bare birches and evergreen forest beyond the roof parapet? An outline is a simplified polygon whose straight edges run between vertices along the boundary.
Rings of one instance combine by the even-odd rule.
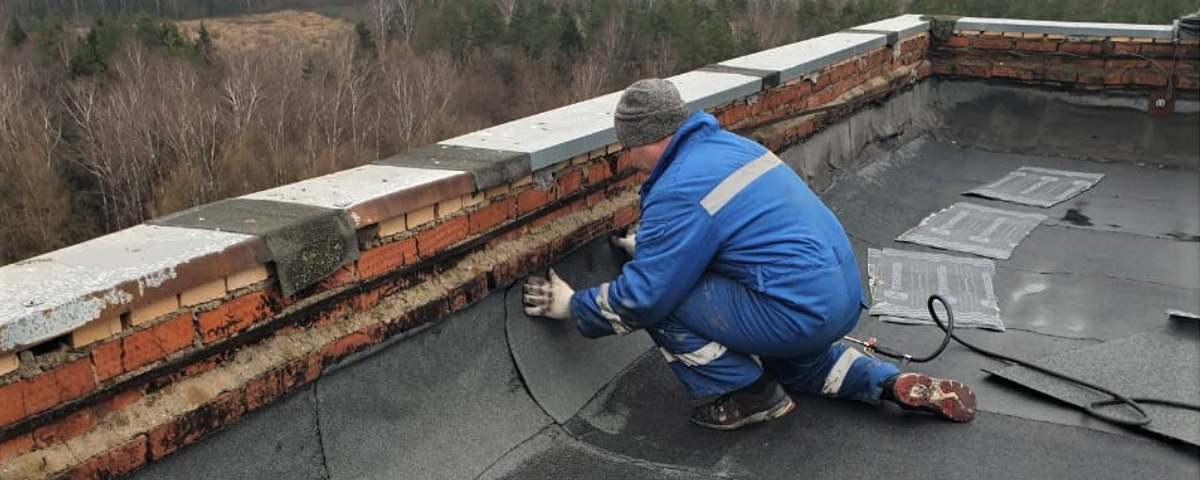
[[[5,0],[0,264],[901,13],[1200,0]]]

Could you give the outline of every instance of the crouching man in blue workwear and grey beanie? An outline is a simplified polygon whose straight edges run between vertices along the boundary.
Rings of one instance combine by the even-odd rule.
[[[718,430],[782,416],[788,392],[820,394],[955,421],[974,416],[960,382],[900,373],[839,342],[863,307],[846,233],[791,168],[704,112],[668,80],[630,85],[617,140],[649,173],[620,275],[575,292],[551,270],[523,286],[529,316],[574,319],[586,337],[646,330]]]

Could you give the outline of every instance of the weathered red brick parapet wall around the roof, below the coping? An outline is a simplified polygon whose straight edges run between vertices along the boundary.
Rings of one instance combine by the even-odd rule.
[[[1141,91],[1165,85],[1151,74],[1152,62],[1164,60],[1163,47],[1171,47],[1169,58],[1195,55],[1194,43],[1176,50],[1121,37],[956,31],[936,40],[913,16],[864,25],[850,37],[859,43],[800,44],[804,52],[829,48],[829,60],[785,59],[757,73],[672,79],[694,107],[778,151],[934,74]],[[745,70],[745,62],[731,65]],[[1074,76],[1056,73],[1076,68]],[[1094,83],[1105,71],[1120,71],[1108,79],[1122,83]],[[1177,62],[1176,88],[1194,90],[1188,82],[1195,72],[1195,61]],[[602,98],[612,103],[616,95]],[[611,104],[605,108],[611,112]],[[74,314],[78,302],[65,302],[61,310],[73,316],[64,318],[73,323],[41,344],[0,350],[0,478],[124,474],[313,382],[350,354],[436,322],[632,223],[644,174],[612,143],[611,128],[569,137],[528,152],[502,146],[499,160],[462,172],[359,172],[420,180],[334,202],[356,229],[359,256],[292,296],[283,295],[263,242],[236,235],[214,236],[220,246],[212,240],[203,253],[168,265],[163,271],[172,275],[122,280],[137,288],[114,283],[79,292],[80,299],[116,300],[89,310],[91,317]],[[356,191],[359,178],[326,184],[348,181]],[[38,265],[35,259],[17,268]],[[6,335],[0,329],[0,338]],[[180,398],[180,391],[187,395]]]

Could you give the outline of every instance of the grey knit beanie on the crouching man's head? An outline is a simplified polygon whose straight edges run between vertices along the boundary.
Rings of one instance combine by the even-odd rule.
[[[660,78],[637,80],[617,103],[617,142],[634,148],[666,138],[688,120],[688,104],[674,84]]]

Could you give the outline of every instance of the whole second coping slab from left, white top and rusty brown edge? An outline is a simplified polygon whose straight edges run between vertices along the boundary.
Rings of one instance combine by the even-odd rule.
[[[241,198],[343,210],[361,228],[473,191],[469,172],[368,164]]]

